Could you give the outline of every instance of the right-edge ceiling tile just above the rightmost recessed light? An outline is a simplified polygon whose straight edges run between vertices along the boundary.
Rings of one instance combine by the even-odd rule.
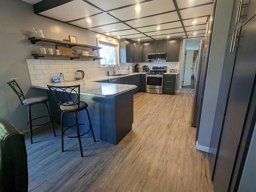
[[[210,15],[213,8],[214,8],[213,4],[210,4],[210,5],[181,10],[180,14],[182,19],[194,18],[194,17],[203,16],[203,15]]]

